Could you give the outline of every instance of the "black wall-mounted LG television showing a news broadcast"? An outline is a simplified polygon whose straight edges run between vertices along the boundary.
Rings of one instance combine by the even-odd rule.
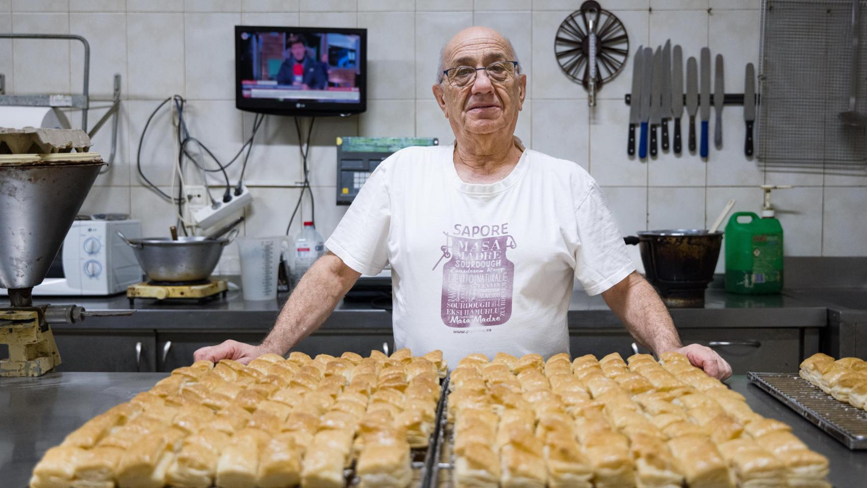
[[[280,115],[367,108],[367,29],[235,26],[235,106]]]

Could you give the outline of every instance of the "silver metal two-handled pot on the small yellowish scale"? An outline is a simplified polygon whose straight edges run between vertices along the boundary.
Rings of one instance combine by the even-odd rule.
[[[238,229],[228,237],[143,237],[129,239],[118,231],[135,252],[141,268],[152,282],[187,283],[206,280],[217,267],[223,248],[238,236]]]

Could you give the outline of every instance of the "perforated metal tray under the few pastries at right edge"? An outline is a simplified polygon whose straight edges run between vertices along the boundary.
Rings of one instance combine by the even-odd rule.
[[[852,450],[867,449],[867,412],[826,394],[798,374],[747,373],[757,387]]]

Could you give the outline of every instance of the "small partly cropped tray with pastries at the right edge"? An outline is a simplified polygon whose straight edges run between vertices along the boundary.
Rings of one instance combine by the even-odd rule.
[[[867,362],[816,354],[799,374],[750,373],[750,381],[850,449],[867,449]]]

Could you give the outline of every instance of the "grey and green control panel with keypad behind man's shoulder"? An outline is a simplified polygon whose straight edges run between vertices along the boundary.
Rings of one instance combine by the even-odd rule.
[[[438,146],[434,137],[338,137],[337,205],[349,205],[383,159],[409,146]]]

